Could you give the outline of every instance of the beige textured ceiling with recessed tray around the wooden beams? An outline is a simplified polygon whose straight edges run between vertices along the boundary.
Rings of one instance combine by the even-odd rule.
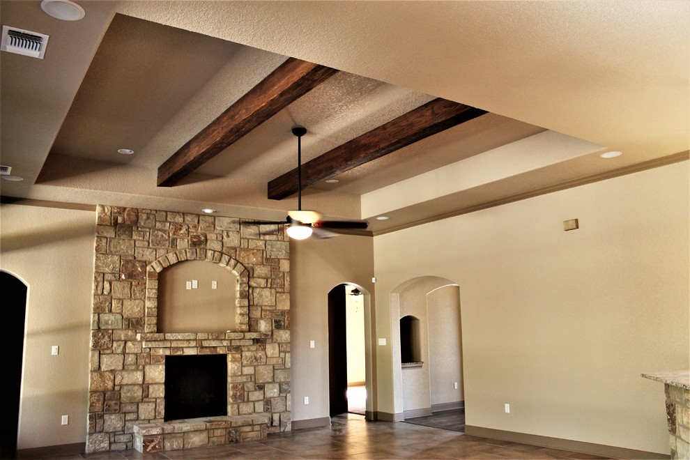
[[[62,22],[0,2],[3,25],[50,36],[43,60],[0,53],[0,161],[24,177],[3,196],[282,218],[296,199],[266,184],[296,167],[294,125],[307,161],[436,97],[490,113],[310,187],[305,207],[383,233],[687,158],[687,2],[81,3]],[[156,187],[288,56],[341,72]]]

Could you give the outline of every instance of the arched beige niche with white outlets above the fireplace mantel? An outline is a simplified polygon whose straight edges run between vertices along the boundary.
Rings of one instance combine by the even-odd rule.
[[[158,275],[158,332],[236,330],[237,290],[237,275],[217,263],[167,267]]]

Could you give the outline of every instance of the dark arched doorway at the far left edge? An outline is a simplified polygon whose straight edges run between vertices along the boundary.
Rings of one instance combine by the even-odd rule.
[[[0,457],[17,458],[17,432],[19,428],[20,390],[22,388],[22,360],[24,350],[24,327],[26,321],[26,285],[9,273],[0,271],[0,286],[5,293],[3,310],[6,312],[5,341],[3,354],[5,372],[2,434],[0,435]]]

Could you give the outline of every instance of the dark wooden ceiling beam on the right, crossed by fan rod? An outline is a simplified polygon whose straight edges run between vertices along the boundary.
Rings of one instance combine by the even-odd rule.
[[[302,189],[484,114],[482,109],[434,99],[302,164]],[[297,183],[297,169],[286,172],[268,183],[268,198],[295,194]]]

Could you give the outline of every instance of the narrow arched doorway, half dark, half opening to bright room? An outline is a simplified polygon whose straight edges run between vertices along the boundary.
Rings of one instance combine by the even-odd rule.
[[[365,291],[361,286],[344,283],[328,293],[328,369],[329,413],[367,416],[367,378],[371,363],[367,349]],[[369,411],[371,411],[369,409]],[[368,414],[371,418],[371,414]]]

